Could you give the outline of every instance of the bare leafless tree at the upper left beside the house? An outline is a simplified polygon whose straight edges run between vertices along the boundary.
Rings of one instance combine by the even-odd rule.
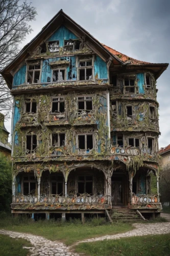
[[[13,60],[19,52],[19,44],[26,38],[26,34],[32,32],[28,23],[35,20],[36,9],[31,3],[19,0],[0,0],[0,70]],[[0,111],[8,111],[12,108],[12,96],[0,76]]]

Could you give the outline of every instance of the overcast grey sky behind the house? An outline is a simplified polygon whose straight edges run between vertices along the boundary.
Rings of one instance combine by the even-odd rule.
[[[22,3],[23,1],[20,1]],[[29,1],[28,1],[29,2]],[[32,0],[38,16],[33,32],[22,47],[35,37],[60,10],[103,44],[130,57],[152,63],[170,60],[170,0]],[[157,81],[159,148],[170,143],[169,68]],[[10,131],[10,123],[6,122]]]

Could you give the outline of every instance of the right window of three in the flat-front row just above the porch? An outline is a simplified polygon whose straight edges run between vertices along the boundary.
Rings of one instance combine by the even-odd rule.
[[[92,134],[78,135],[78,148],[80,150],[92,150],[93,135]]]

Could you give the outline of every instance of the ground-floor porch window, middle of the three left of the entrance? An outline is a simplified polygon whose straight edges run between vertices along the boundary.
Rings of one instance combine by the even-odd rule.
[[[62,175],[51,175],[51,194],[63,196],[63,181]]]

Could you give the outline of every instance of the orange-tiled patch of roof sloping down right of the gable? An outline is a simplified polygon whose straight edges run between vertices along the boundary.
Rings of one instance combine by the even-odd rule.
[[[137,59],[134,59],[134,58],[131,58],[121,52],[118,52],[112,48],[110,48],[109,46],[106,46],[104,44],[102,44],[109,52],[111,52],[112,54],[114,54],[117,58],[119,58],[120,60],[122,61],[130,61],[131,64],[133,65],[142,65],[142,64],[151,64],[150,62],[146,62],[146,61],[142,61],[142,60],[137,60]]]

